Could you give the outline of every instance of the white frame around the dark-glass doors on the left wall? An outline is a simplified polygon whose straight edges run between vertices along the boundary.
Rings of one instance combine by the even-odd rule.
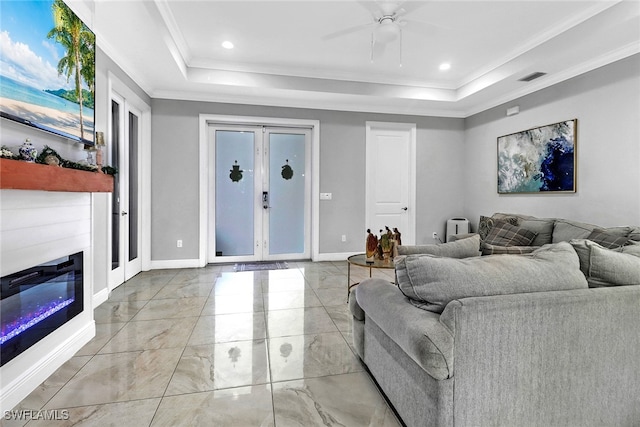
[[[111,103],[112,100],[124,101],[122,111],[129,111],[127,105],[130,105],[136,113],[140,113],[138,117],[138,126],[140,139],[138,141],[138,256],[141,262],[141,271],[148,271],[151,268],[151,106],[147,104],[138,94],[136,94],[129,86],[123,83],[111,71],[107,75],[107,141],[111,141]],[[114,96],[115,95],[115,96]],[[125,128],[128,128],[128,115],[123,115],[126,120]],[[128,132],[128,131],[127,131]],[[109,150],[109,147],[106,148]],[[108,164],[105,153],[105,163]],[[118,176],[114,179],[118,179]],[[128,183],[126,183],[128,184]],[[112,193],[109,193],[109,207],[111,207]],[[112,215],[108,215],[108,238],[106,248],[106,265],[107,265],[107,283],[109,291],[112,291],[122,283],[115,283],[112,278],[111,269],[111,249],[112,249]],[[128,280],[125,273],[125,280]]]

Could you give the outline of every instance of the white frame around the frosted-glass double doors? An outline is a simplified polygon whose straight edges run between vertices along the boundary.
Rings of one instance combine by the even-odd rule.
[[[319,244],[319,200],[320,200],[320,121],[291,119],[278,117],[253,117],[253,116],[228,116],[219,114],[200,114],[199,123],[199,144],[200,144],[200,242],[198,263],[201,267],[207,265],[208,238],[209,238],[209,176],[211,165],[209,162],[210,147],[208,129],[210,125],[247,125],[266,127],[287,127],[287,128],[307,128],[311,129],[311,259],[317,260],[320,252]]]

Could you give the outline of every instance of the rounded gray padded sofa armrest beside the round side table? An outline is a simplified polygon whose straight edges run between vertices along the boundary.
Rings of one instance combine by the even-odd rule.
[[[382,279],[367,279],[355,290],[358,306],[433,378],[453,376],[453,336],[437,313],[417,308]]]

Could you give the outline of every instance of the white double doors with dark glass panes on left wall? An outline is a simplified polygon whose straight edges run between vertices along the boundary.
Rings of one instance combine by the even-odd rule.
[[[118,169],[111,198],[111,274],[113,289],[142,270],[140,256],[141,111],[115,93],[111,95],[110,164]]]

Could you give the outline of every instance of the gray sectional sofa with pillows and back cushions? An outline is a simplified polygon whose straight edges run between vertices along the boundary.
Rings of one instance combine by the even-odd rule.
[[[640,227],[495,214],[478,231],[401,247],[396,285],[350,298],[354,347],[406,425],[640,425]]]

